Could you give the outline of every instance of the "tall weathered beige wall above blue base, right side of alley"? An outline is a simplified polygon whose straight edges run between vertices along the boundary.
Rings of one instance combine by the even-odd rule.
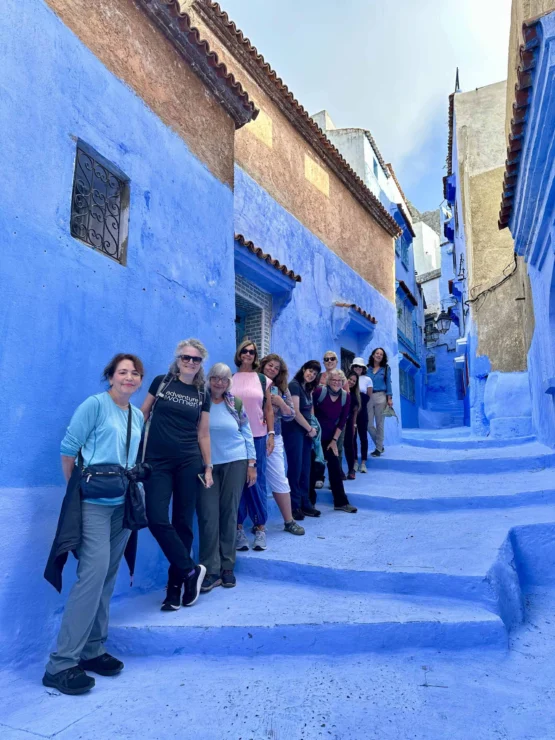
[[[492,371],[526,370],[531,336],[529,284],[522,260],[515,266],[508,229],[499,231],[499,194],[505,172],[506,82],[455,95],[455,126],[462,184],[468,289],[478,332],[478,354]],[[500,283],[494,291],[487,288]]]

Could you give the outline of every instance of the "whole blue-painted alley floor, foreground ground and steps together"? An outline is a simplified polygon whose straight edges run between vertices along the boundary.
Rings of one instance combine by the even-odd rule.
[[[555,453],[467,431],[406,432],[348,484],[357,515],[324,489],[305,537],[274,518],[232,591],[116,601],[126,670],[90,695],[4,674],[2,737],[552,737]]]

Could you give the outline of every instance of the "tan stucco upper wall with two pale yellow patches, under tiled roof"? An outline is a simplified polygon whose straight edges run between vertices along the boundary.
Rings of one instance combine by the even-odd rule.
[[[395,294],[393,238],[319,159],[259,85],[204,24],[192,0],[182,2],[229,71],[263,112],[237,131],[235,159],[270,195],[388,300]],[[309,160],[309,161],[307,161]],[[248,238],[248,234],[245,234]]]

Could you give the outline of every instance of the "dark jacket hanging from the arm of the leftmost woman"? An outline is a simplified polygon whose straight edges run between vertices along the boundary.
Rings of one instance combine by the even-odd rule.
[[[83,519],[81,512],[81,471],[75,466],[71,478],[68,481],[66,494],[62,501],[62,508],[58,518],[56,536],[52,543],[50,555],[44,569],[44,577],[51,583],[56,591],[62,590],[62,570],[70,552],[76,558],[77,548],[81,542]],[[125,548],[125,559],[129,566],[131,578],[135,571],[135,559],[137,557],[137,532],[131,532],[129,541]]]

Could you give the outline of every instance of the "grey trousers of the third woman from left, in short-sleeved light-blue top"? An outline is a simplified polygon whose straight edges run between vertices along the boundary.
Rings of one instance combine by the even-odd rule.
[[[197,498],[199,560],[208,575],[220,575],[235,565],[237,512],[247,479],[247,461],[214,465],[214,485]]]

